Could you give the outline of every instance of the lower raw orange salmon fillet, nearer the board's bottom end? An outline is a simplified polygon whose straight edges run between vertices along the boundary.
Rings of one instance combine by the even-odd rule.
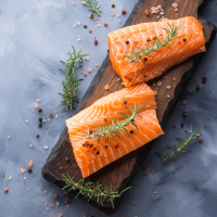
[[[139,131],[133,125],[129,125],[126,129],[128,131],[133,130],[133,133],[129,133],[129,137],[124,131],[119,136],[120,139],[111,137],[105,141],[104,138],[101,138],[99,143],[84,136],[88,133],[88,127],[91,130],[95,128],[95,124],[101,123],[105,125],[104,119],[108,123],[112,123],[112,117],[125,119],[125,116],[117,112],[131,114],[126,105],[133,108],[135,103],[137,106],[145,104],[140,111],[142,118],[135,118]],[[112,162],[163,135],[164,132],[156,118],[155,108],[155,92],[143,82],[103,97],[91,106],[67,119],[66,126],[69,140],[82,177],[90,176]]]

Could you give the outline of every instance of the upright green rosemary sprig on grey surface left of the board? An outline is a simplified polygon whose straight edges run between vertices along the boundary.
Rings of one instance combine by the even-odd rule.
[[[87,56],[88,54],[81,54],[79,51],[78,53],[76,53],[75,48],[72,46],[73,48],[73,53],[71,53],[69,51],[67,51],[67,53],[69,54],[69,59],[64,62],[61,61],[62,63],[64,63],[64,69],[61,69],[63,73],[65,73],[65,81],[62,81],[63,84],[63,93],[59,92],[59,94],[62,95],[63,100],[61,101],[61,105],[66,105],[66,110],[69,106],[71,110],[75,108],[76,103],[78,103],[78,93],[80,92],[80,89],[78,89],[78,86],[80,84],[80,80],[82,79],[78,79],[78,77],[75,75],[75,71],[78,69],[79,67],[81,67],[81,63],[82,63],[82,58]]]

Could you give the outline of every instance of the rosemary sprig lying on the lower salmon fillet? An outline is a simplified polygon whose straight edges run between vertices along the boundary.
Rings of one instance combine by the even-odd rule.
[[[106,119],[104,119],[105,124],[107,125],[103,126],[102,124],[95,124],[95,128],[91,130],[89,129],[89,126],[88,126],[88,135],[84,135],[84,136],[87,137],[87,139],[97,140],[98,143],[100,142],[101,138],[105,138],[105,142],[108,140],[110,137],[119,138],[119,135],[123,135],[124,130],[126,131],[127,137],[129,137],[129,132],[127,131],[126,127],[129,125],[133,125],[139,131],[139,128],[137,127],[135,123],[135,118],[138,116],[142,118],[142,116],[139,114],[139,111],[143,106],[137,106],[135,103],[135,110],[132,110],[130,106],[127,105],[126,107],[131,111],[131,115],[117,112],[124,115],[126,119],[119,120],[115,117],[112,117],[113,118],[112,124],[110,124]],[[116,120],[116,123],[114,120]]]

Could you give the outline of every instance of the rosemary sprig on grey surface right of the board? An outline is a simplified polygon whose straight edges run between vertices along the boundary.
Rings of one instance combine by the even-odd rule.
[[[190,132],[186,130],[188,136],[178,132],[179,135],[183,136],[186,139],[176,138],[175,140],[179,143],[179,145],[178,146],[176,146],[176,145],[168,146],[167,149],[171,149],[173,152],[167,151],[167,154],[164,156],[163,161],[165,162],[165,161],[168,161],[169,158],[171,158],[176,162],[177,158],[180,159],[178,153],[179,152],[186,152],[187,149],[191,150],[187,145],[195,142],[195,140],[196,140],[195,137],[196,137],[196,135],[200,133],[200,131],[201,130],[199,130],[197,128],[194,131],[192,131],[192,126],[191,126]]]

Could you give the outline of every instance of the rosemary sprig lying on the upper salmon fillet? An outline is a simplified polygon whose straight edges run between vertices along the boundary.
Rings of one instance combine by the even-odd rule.
[[[130,60],[129,63],[139,63],[138,60],[140,60],[144,65],[146,65],[145,61],[148,59],[145,56],[153,58],[150,55],[150,53],[161,52],[158,49],[163,47],[171,49],[173,44],[169,41],[177,39],[176,36],[178,35],[181,26],[174,26],[174,23],[173,25],[168,23],[168,25],[169,29],[163,28],[167,33],[167,37],[165,39],[161,41],[159,38],[163,38],[161,36],[150,39],[151,44],[143,43],[143,47],[141,48],[140,47],[132,48],[131,51],[125,52],[129,54],[124,54],[124,56]]]

